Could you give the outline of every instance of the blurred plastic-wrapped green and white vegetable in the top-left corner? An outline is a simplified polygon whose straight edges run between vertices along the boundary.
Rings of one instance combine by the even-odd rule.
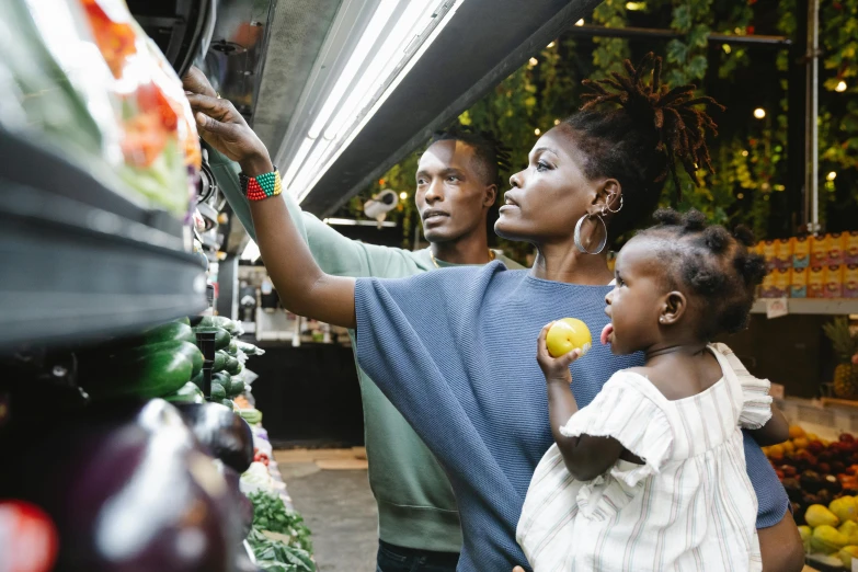
[[[118,102],[79,7],[65,0],[0,2],[0,125],[54,146],[118,186]]]

